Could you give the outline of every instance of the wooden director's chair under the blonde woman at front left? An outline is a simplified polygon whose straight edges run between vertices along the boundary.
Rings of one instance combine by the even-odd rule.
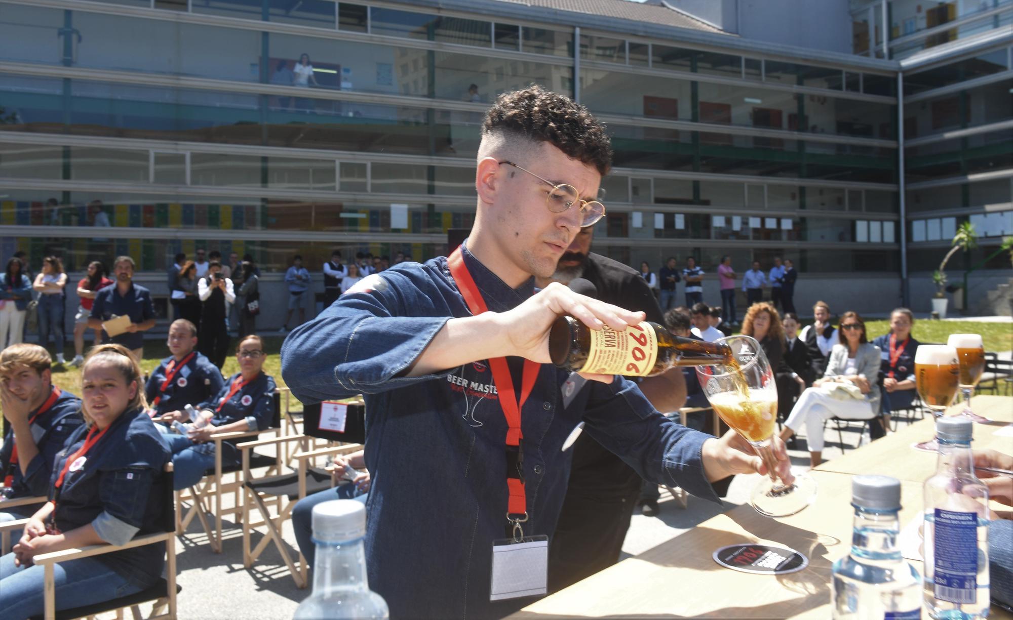
[[[140,606],[145,603],[153,604],[151,615],[148,617],[149,620],[176,620],[176,595],[181,589],[176,586],[176,527],[175,511],[173,510],[172,463],[165,465],[165,514],[162,517],[161,524],[163,532],[137,536],[125,545],[89,545],[80,549],[64,549],[63,551],[44,553],[34,557],[35,565],[43,566],[45,571],[46,583],[43,596],[46,607],[42,616],[34,616],[31,620],[91,618],[98,614],[110,612],[115,612],[116,618],[123,618],[123,612],[128,608],[131,610],[135,620],[140,620],[142,617]],[[46,498],[44,497],[43,499],[45,500]],[[22,529],[27,523],[27,519],[22,519],[0,524],[0,531],[6,537],[9,536],[11,530]],[[55,564],[158,543],[165,543],[165,577],[160,577],[150,588],[103,603],[56,611]]]

